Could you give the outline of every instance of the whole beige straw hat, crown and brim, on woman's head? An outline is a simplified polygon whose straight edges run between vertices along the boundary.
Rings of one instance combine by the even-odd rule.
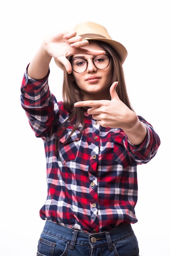
[[[74,29],[77,32],[77,36],[81,36],[84,40],[99,40],[108,43],[119,54],[121,64],[124,63],[128,52],[126,48],[119,42],[113,40],[105,27],[95,22],[87,21],[79,23]],[[62,63],[55,59],[57,66],[63,69]]]

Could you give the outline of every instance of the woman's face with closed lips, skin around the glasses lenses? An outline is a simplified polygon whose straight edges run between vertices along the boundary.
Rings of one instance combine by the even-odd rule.
[[[104,50],[93,41],[90,41],[89,45],[84,48]],[[73,60],[80,57],[88,60],[87,69],[81,74],[76,73],[75,71],[72,71],[72,74],[83,95],[83,100],[108,99],[110,96],[109,88],[112,85],[113,78],[112,61],[110,60],[108,67],[100,70],[93,64],[92,58],[94,56],[76,54],[73,55]]]

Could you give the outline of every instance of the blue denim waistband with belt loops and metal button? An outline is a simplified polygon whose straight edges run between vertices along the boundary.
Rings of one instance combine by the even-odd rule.
[[[50,220],[46,220],[42,232],[67,241],[70,243],[70,249],[74,249],[75,244],[90,245],[91,249],[108,245],[110,251],[113,250],[114,243],[134,235],[130,224],[124,224],[106,232],[90,234],[59,225]]]

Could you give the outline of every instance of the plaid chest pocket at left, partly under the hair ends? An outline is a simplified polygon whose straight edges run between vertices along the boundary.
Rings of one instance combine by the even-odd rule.
[[[58,157],[61,159],[63,164],[74,160],[78,154],[80,131],[75,130],[71,137],[69,137],[72,131],[72,128],[66,128],[62,133],[62,136],[58,138]],[[68,137],[69,139],[67,139]]]

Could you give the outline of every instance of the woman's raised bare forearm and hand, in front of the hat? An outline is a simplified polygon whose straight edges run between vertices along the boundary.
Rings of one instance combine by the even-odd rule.
[[[83,47],[87,45],[88,40],[82,40],[81,36],[76,36],[76,31],[62,32],[46,37],[29,64],[28,75],[32,79],[43,79],[48,73],[52,57],[62,63],[70,74],[72,67],[66,57],[74,54],[101,55],[105,53],[104,51],[84,49]]]

